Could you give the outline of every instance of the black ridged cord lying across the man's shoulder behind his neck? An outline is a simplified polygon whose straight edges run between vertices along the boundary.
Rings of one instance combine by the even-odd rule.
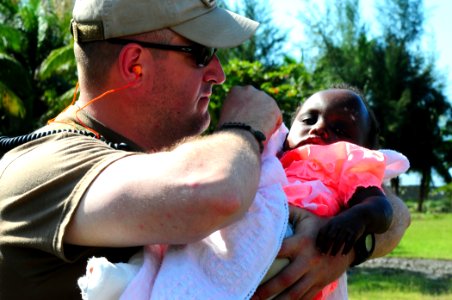
[[[54,129],[49,131],[42,131],[42,132],[35,132],[35,133],[29,133],[24,135],[19,135],[16,137],[7,137],[7,136],[0,136],[0,157],[3,156],[4,153],[7,151],[20,146],[22,144],[25,144],[27,142],[49,136],[52,134],[57,133],[63,133],[63,132],[69,132],[69,133],[75,133],[75,134],[81,134],[84,136],[89,136],[92,138],[97,138],[96,135],[92,132],[85,131],[85,130],[76,130],[76,129]],[[109,147],[116,149],[116,150],[130,150],[129,145],[126,143],[113,143],[110,141],[107,141],[103,136],[100,136],[98,138],[99,140],[106,143]]]

